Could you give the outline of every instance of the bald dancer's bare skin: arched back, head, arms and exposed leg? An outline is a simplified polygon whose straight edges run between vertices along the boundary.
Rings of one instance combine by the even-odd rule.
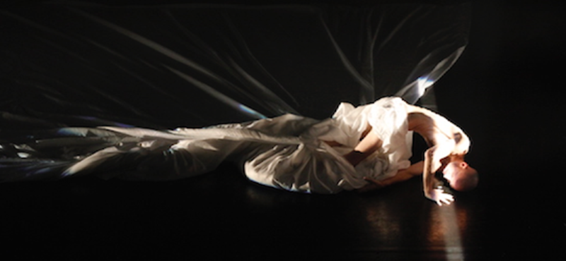
[[[475,188],[478,185],[478,172],[464,161],[470,140],[458,126],[444,117],[410,104],[406,104],[406,107],[408,129],[419,133],[429,145],[429,149],[424,152],[424,162],[417,162],[407,169],[401,169],[395,176],[383,181],[366,178],[370,184],[360,190],[383,188],[423,174],[424,195],[439,205],[450,204],[454,198],[444,192],[441,182],[434,177],[434,173],[441,171],[451,188],[455,190],[466,191]],[[355,164],[359,161],[359,157],[365,156],[366,152],[379,147],[380,142],[381,140],[375,135],[368,135],[345,157]]]

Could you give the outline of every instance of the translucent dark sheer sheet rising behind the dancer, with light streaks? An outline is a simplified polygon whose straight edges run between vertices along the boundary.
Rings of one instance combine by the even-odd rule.
[[[4,8],[2,128],[16,121],[199,127],[285,113],[323,119],[340,102],[388,95],[415,103],[466,47],[468,11],[461,4]]]

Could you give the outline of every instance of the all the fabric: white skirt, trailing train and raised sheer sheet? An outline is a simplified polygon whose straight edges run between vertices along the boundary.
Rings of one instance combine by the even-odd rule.
[[[359,188],[408,166],[403,104],[434,107],[468,23],[467,5],[5,8],[0,180],[171,180],[233,160],[267,186]],[[341,155],[366,124],[384,144],[354,168]]]

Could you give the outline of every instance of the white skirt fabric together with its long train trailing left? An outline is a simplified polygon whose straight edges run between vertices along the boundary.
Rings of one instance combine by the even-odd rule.
[[[250,180],[266,186],[337,193],[361,188],[366,176],[388,178],[409,166],[412,133],[405,106],[395,97],[360,107],[340,104],[333,118],[324,121],[285,114],[198,129],[105,126],[35,131],[18,135],[17,142],[1,142],[0,176],[1,181],[87,174],[167,181],[203,174],[231,160]],[[383,145],[354,168],[342,155],[357,145],[367,126]]]

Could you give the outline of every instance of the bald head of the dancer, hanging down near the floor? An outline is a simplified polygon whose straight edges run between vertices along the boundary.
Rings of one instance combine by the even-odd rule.
[[[452,160],[446,164],[442,174],[454,190],[467,191],[478,186],[478,171],[461,159]]]

